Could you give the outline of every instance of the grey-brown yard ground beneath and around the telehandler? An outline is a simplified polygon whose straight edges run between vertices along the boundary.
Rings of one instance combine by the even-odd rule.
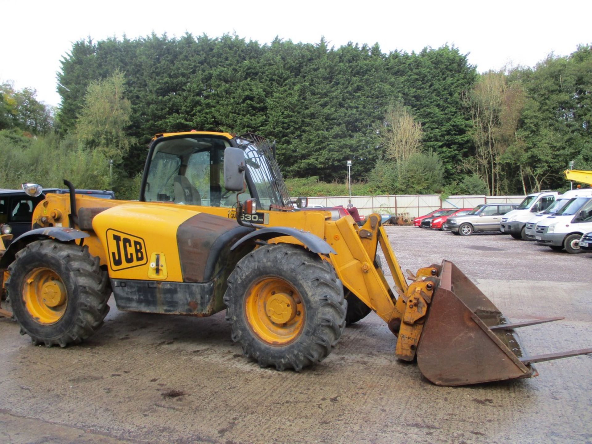
[[[501,234],[388,227],[403,269],[447,258],[522,329],[529,354],[592,347],[592,255]],[[374,313],[320,365],[260,369],[224,314],[186,318],[112,309],[87,342],[31,345],[0,318],[0,442],[592,442],[592,356],[537,366],[538,378],[436,387],[394,358]]]

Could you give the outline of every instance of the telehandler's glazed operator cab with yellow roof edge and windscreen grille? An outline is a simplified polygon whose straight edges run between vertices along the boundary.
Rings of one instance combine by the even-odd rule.
[[[233,137],[197,131],[157,134],[150,146],[140,201],[231,208],[240,194],[241,200],[255,199],[263,210],[291,210],[269,144],[249,136],[255,135]],[[228,191],[224,186],[224,150],[228,147],[244,150],[244,192]]]

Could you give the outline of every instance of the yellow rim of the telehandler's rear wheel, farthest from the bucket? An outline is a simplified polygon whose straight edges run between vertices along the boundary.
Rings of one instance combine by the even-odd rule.
[[[62,279],[49,268],[36,268],[25,277],[22,300],[31,317],[43,325],[59,321],[68,303]]]

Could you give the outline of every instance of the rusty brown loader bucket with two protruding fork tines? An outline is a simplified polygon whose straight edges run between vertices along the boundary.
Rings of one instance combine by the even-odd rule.
[[[442,262],[439,277],[417,346],[417,365],[436,385],[536,377],[532,362],[592,352],[574,350],[529,358],[514,329],[562,318],[510,323],[452,262]]]

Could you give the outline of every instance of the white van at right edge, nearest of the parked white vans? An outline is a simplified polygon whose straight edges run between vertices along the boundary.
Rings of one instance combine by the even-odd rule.
[[[536,224],[535,239],[552,250],[581,253],[580,238],[588,231],[592,231],[592,197],[576,197],[561,212]]]

